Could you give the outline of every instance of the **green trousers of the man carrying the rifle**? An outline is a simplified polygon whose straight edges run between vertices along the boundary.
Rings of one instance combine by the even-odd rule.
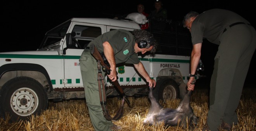
[[[100,106],[97,61],[91,55],[89,49],[85,49],[80,57],[80,69],[85,88],[86,104],[93,128],[95,131],[112,131],[113,123],[104,117]],[[105,76],[105,73],[102,72],[102,75]]]

